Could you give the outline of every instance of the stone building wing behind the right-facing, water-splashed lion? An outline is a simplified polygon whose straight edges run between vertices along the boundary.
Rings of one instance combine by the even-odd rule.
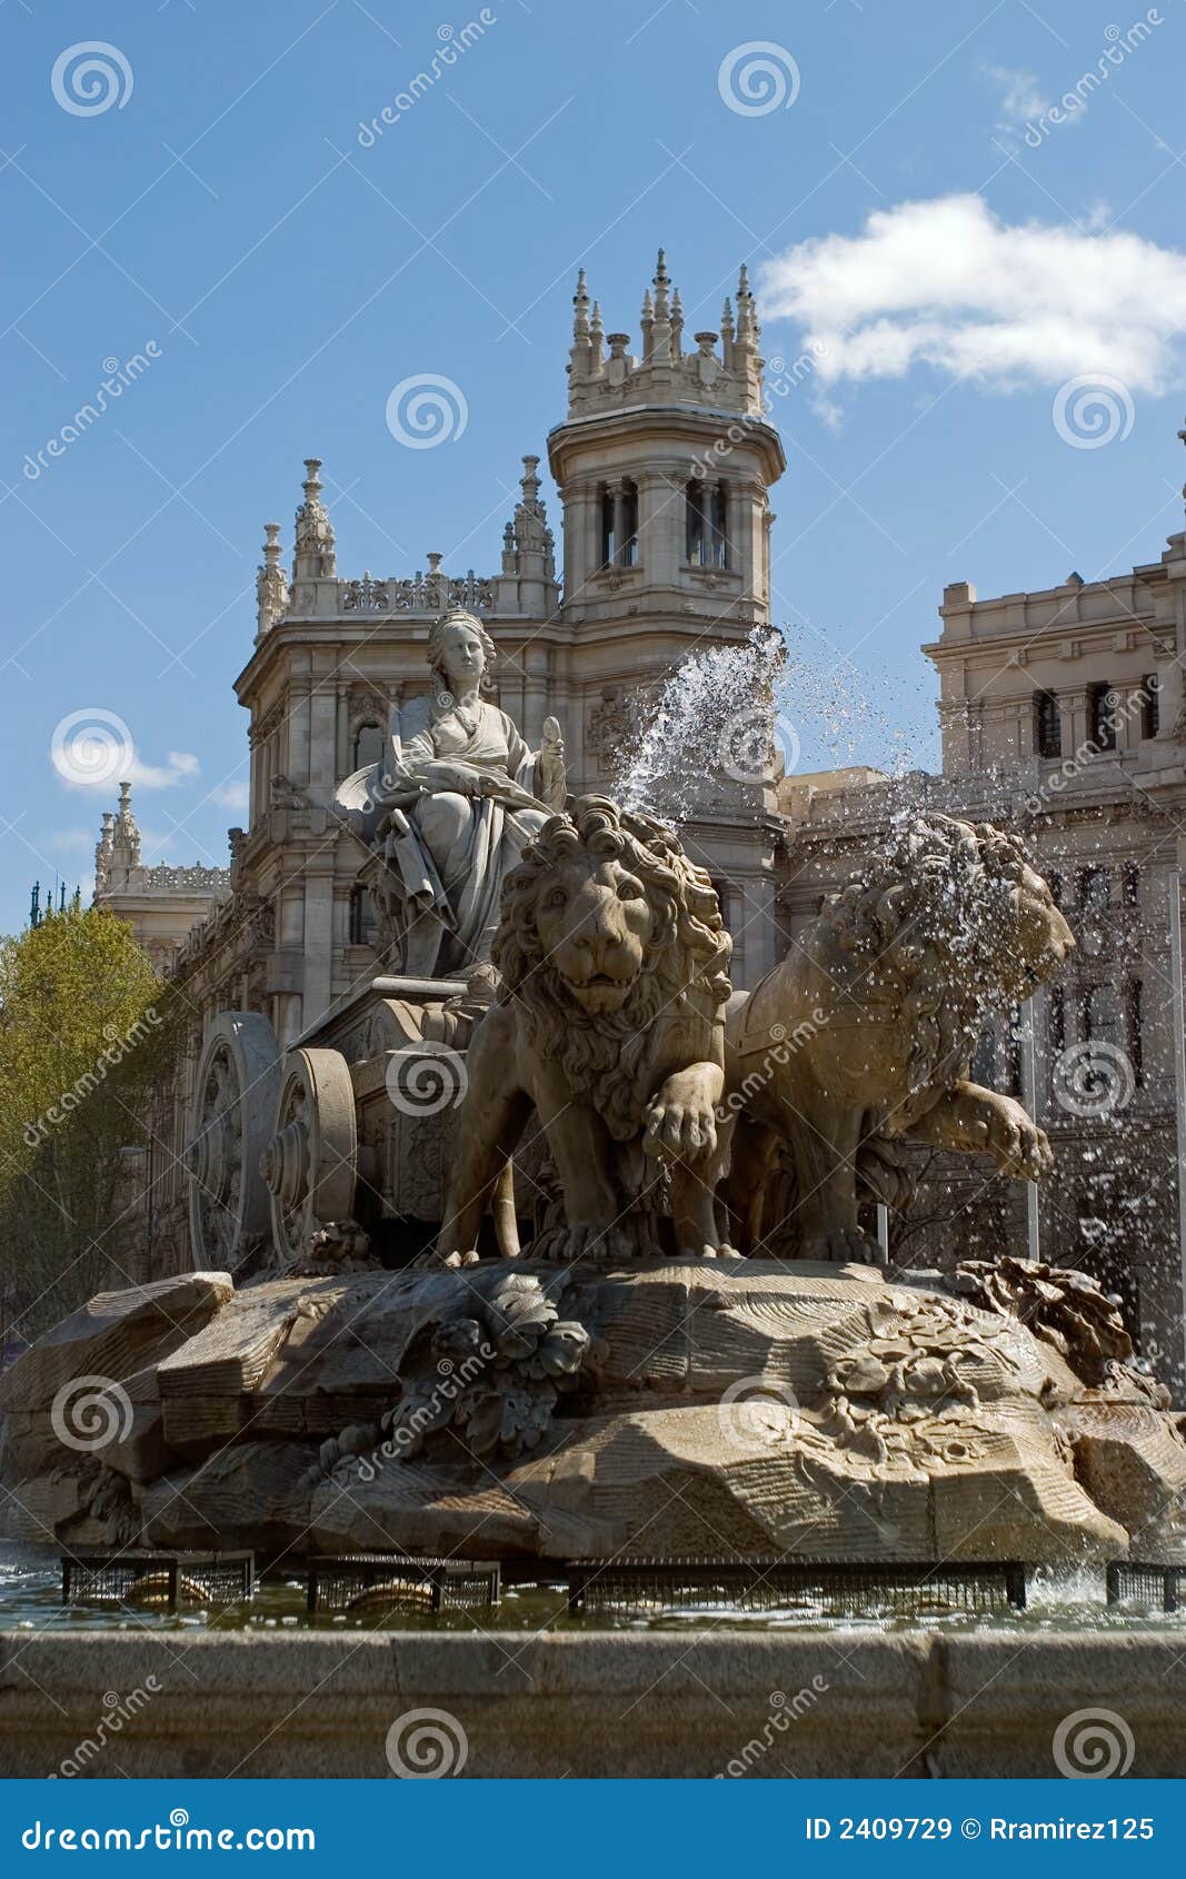
[[[925,646],[940,678],[942,776],[833,772],[780,785],[791,936],[925,806],[1019,831],[1079,941],[1062,981],[985,1035],[974,1075],[1030,1095],[1056,1150],[1034,1189],[983,1167],[936,1165],[912,1257],[942,1251],[953,1218],[985,1248],[1013,1242],[1085,1266],[1116,1291],[1162,1374],[1184,1381],[1178,1156],[1182,1103],[1180,877],[1186,853],[1186,534],[1105,581],[977,599],[959,582]]]

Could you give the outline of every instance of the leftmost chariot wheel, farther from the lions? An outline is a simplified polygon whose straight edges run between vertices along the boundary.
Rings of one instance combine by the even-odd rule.
[[[269,1233],[259,1154],[273,1131],[280,1047],[259,1011],[220,1011],[197,1065],[184,1169],[197,1270],[235,1268]]]

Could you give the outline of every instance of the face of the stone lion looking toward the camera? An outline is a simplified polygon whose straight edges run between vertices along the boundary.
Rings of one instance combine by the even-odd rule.
[[[641,879],[616,859],[577,851],[538,887],[536,932],[560,986],[586,1013],[620,1011],[654,936]]]

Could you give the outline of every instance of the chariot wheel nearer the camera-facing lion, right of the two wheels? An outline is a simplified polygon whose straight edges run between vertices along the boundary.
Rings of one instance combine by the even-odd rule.
[[[274,1135],[259,1163],[271,1195],[273,1242],[282,1259],[301,1259],[314,1233],[351,1218],[357,1161],[346,1058],[340,1050],[289,1050]]]

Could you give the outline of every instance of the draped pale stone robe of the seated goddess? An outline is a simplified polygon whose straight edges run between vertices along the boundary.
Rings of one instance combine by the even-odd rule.
[[[432,774],[432,763],[491,778],[494,793],[460,797]],[[553,814],[543,800],[541,769],[496,705],[479,703],[462,722],[457,708],[442,710],[438,699],[421,697],[391,714],[383,761],[355,772],[338,791],[338,802],[361,808],[372,827],[389,815],[385,864],[402,883],[408,913],[432,913],[451,936],[451,970],[491,956],[502,883]],[[464,800],[468,821],[460,838],[440,836],[429,804],[442,793]]]

